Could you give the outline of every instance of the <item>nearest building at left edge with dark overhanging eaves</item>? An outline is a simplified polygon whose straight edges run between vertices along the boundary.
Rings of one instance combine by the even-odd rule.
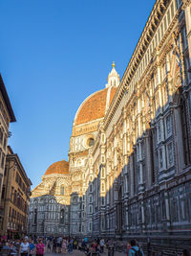
[[[2,218],[1,193],[5,171],[8,137],[10,135],[10,123],[15,122],[15,116],[6,86],[0,74],[0,219]]]

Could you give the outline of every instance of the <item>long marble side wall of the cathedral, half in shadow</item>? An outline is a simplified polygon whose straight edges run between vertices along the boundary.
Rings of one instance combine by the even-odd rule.
[[[156,2],[159,20],[151,14],[98,131],[92,237],[191,234],[189,26],[181,1],[166,3]]]

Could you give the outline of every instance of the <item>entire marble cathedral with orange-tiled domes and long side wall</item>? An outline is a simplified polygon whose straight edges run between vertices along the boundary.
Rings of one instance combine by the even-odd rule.
[[[121,81],[113,64],[79,106],[69,163],[32,191],[30,233],[173,248],[189,243],[190,198],[191,1],[157,0]]]

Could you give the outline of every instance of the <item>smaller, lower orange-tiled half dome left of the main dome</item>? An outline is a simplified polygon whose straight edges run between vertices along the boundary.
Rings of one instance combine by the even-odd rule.
[[[51,165],[45,175],[68,175],[69,174],[69,162],[62,160],[53,163]]]

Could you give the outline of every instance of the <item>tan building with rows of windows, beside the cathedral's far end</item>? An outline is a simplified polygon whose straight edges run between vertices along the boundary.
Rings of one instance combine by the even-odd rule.
[[[1,205],[0,234],[10,238],[27,233],[32,182],[16,153],[8,147]]]

